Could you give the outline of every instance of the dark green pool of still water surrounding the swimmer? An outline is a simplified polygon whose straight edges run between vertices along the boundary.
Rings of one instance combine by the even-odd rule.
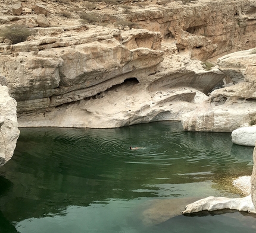
[[[239,197],[229,184],[251,174],[252,151],[179,122],[21,129],[0,168],[0,232],[255,232],[247,213],[180,215],[203,197]]]

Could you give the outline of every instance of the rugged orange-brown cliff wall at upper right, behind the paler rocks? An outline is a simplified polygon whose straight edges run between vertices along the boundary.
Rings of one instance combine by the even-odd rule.
[[[131,14],[115,15],[151,31],[160,31],[179,52],[190,51],[192,58],[206,60],[254,47],[255,1],[195,1],[139,8]],[[210,16],[210,17],[209,17]],[[111,17],[111,20],[113,17]]]

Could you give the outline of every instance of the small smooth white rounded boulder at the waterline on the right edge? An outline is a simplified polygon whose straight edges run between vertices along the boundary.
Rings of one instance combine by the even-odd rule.
[[[232,142],[238,145],[255,146],[256,127],[241,127],[233,130]]]

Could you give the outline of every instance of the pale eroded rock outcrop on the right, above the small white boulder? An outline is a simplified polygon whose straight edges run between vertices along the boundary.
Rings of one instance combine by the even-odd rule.
[[[229,81],[226,87],[211,92],[207,101],[182,117],[185,130],[232,132],[255,125],[256,54],[254,49],[231,53],[217,60],[218,69]]]

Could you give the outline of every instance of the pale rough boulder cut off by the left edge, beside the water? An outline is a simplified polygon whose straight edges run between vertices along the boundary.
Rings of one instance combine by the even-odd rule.
[[[0,166],[13,156],[19,133],[16,101],[9,96],[8,88],[0,85]]]

